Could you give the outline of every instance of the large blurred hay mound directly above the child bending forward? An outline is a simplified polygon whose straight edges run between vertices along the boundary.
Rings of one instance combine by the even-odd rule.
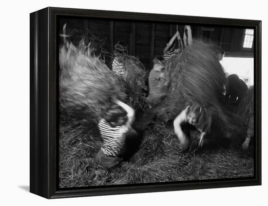
[[[172,102],[200,103],[220,112],[219,97],[226,82],[224,69],[210,46],[195,42],[166,63],[162,88]]]

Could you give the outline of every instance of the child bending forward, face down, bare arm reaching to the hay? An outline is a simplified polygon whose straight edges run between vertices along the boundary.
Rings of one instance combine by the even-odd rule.
[[[191,106],[187,106],[174,120],[174,132],[178,137],[182,149],[186,149],[189,145],[189,139],[186,137],[186,134],[182,131],[181,124],[189,123],[193,125],[196,130],[198,130],[201,134],[199,137],[199,146],[203,144],[203,138],[209,132],[211,125],[211,117],[207,115],[205,109],[194,103]]]

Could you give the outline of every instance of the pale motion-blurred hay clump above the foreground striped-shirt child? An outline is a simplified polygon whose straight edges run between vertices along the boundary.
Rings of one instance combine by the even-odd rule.
[[[125,101],[122,80],[92,53],[82,40],[76,48],[65,42],[59,49],[59,97],[65,107],[88,107],[103,116],[114,99]]]

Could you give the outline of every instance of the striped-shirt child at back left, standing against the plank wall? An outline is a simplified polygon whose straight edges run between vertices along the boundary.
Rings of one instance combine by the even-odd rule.
[[[124,76],[126,75],[126,69],[124,68],[122,57],[125,54],[128,54],[128,45],[124,42],[117,42],[115,44],[115,58],[112,63],[112,70],[117,76]]]

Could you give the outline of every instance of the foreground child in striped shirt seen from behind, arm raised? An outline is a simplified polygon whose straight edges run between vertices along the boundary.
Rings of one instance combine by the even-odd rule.
[[[126,135],[132,130],[134,109],[125,103],[116,101],[98,123],[102,145],[96,155],[96,162],[109,169],[122,160]]]

